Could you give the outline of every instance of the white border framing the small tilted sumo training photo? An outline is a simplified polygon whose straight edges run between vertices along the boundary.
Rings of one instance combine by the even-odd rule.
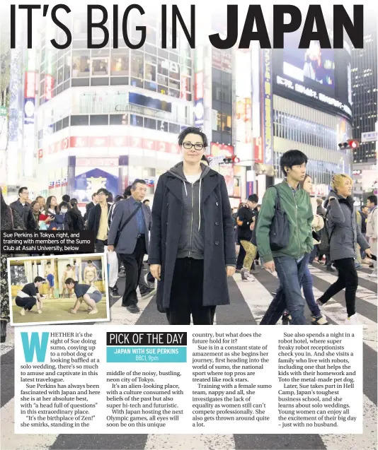
[[[25,322],[23,324],[18,324],[13,322],[13,298],[12,298],[12,290],[11,290],[11,261],[42,261],[44,259],[67,259],[67,258],[88,258],[91,259],[93,256],[101,256],[101,263],[103,264],[104,273],[105,273],[105,299],[106,299],[106,318],[105,319],[76,319],[76,320],[62,320],[62,321],[50,321],[50,322]],[[57,254],[51,256],[21,256],[17,258],[8,258],[8,292],[9,292],[9,309],[11,311],[10,319],[11,326],[38,326],[38,325],[53,325],[53,324],[76,324],[79,325],[83,322],[86,323],[94,323],[94,322],[106,322],[110,321],[110,307],[109,307],[109,288],[108,288],[108,266],[106,261],[105,253],[86,253],[86,254]]]

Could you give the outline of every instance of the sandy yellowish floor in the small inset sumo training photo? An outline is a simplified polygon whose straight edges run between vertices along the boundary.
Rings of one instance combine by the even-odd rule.
[[[98,319],[106,319],[106,298],[96,304],[98,314],[88,314],[86,312],[87,304],[82,302],[79,311],[71,314],[69,310],[74,307],[76,297],[61,298],[52,300],[42,300],[42,314],[38,314],[37,307],[29,312],[25,312],[25,316],[21,316],[21,307],[16,306],[14,299],[12,301],[13,323],[14,324],[38,324],[39,322],[54,321],[83,321],[91,320],[96,322]]]

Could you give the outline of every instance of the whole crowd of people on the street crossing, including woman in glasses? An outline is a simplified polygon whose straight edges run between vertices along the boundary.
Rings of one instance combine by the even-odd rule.
[[[171,325],[214,323],[217,307],[230,304],[227,278],[235,272],[253,283],[259,268],[277,272],[279,286],[261,325],[327,325],[324,305],[345,289],[345,324],[357,324],[357,269],[370,261],[377,278],[377,196],[371,195],[355,211],[353,180],[335,174],[325,201],[311,203],[312,179],[307,156],[299,150],[282,155],[285,179],[266,189],[261,203],[248,196],[231,210],[224,177],[210,168],[205,149],[207,137],[189,127],[178,136],[183,161],[159,177],[152,208],[145,199],[147,184],[136,179],[115,197],[107,189],[93,193],[82,217],[76,199],[38,196],[31,204],[28,189],[19,190],[11,203],[9,229],[91,230],[96,252],[115,251],[125,278],[122,306],[140,312],[142,297],[156,292],[156,306]],[[1,206],[4,199],[1,196]],[[5,202],[4,202],[5,204]],[[4,213],[5,214],[5,213]],[[1,226],[3,226],[1,211]],[[12,222],[11,222],[12,220]],[[145,256],[149,272],[142,276]],[[237,257],[236,257],[237,256]],[[337,280],[317,300],[309,266],[319,261],[326,271],[338,272]],[[157,290],[155,290],[157,280]],[[113,297],[120,297],[117,285]],[[303,289],[303,295],[302,295]]]

